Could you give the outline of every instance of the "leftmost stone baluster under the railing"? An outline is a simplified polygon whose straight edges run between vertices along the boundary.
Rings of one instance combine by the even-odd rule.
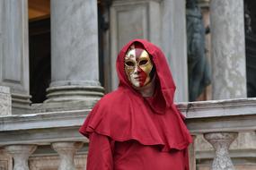
[[[28,159],[37,149],[36,145],[11,145],[4,147],[14,160],[13,170],[29,170]]]

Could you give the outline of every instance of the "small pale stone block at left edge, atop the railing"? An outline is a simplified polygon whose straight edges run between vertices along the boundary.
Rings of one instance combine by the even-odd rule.
[[[10,89],[0,86],[0,116],[12,115]]]

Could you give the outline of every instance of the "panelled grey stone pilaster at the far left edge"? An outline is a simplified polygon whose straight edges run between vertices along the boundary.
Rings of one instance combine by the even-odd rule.
[[[0,20],[0,85],[11,88],[14,108],[26,109],[31,103],[27,0],[0,1]]]

